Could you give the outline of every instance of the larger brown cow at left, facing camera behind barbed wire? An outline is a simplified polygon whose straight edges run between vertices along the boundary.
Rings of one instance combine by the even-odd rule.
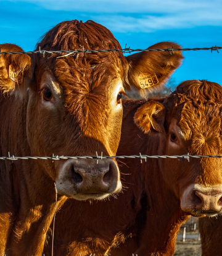
[[[163,42],[154,48],[172,47]],[[62,22],[36,49],[121,49],[95,22]],[[22,51],[2,44],[4,51]],[[139,75],[163,85],[183,59],[180,52],[2,55],[1,155],[115,155],[120,141],[121,96]],[[147,89],[142,93],[146,94]],[[0,163],[0,254],[41,255],[47,229],[67,197],[104,199],[121,189],[115,160],[10,160]]]

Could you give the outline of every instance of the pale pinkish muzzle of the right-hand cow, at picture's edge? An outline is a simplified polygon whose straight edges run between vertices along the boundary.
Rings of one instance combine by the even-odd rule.
[[[222,212],[222,186],[193,184],[181,197],[181,209],[196,217],[213,216]]]

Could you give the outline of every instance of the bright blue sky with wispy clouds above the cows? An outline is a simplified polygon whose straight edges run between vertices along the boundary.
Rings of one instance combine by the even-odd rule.
[[[183,47],[222,46],[221,0],[0,0],[0,44],[33,50],[40,36],[63,20],[94,20],[109,28],[122,47],[146,49],[160,41]],[[184,52],[176,83],[207,79],[222,85],[220,54]]]

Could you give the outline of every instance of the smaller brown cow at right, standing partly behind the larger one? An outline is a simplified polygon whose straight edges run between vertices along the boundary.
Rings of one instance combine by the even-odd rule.
[[[220,85],[191,80],[166,99],[126,101],[117,155],[221,154],[221,99]],[[70,199],[57,213],[55,255],[173,255],[190,215],[221,213],[222,159],[121,162],[127,188],[117,199]]]

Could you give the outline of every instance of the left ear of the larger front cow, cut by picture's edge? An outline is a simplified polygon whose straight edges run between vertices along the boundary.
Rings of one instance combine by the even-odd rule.
[[[23,52],[15,44],[0,44],[1,52]],[[4,93],[13,93],[16,89],[25,89],[25,81],[31,73],[31,58],[27,54],[1,54],[0,89]]]

